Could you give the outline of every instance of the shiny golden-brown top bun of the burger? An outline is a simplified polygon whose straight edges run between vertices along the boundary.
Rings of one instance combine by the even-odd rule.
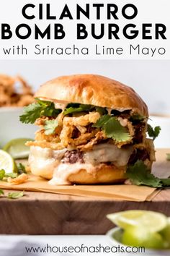
[[[90,104],[120,111],[132,109],[148,116],[146,103],[132,88],[97,74],[75,74],[50,80],[40,87],[35,98]]]

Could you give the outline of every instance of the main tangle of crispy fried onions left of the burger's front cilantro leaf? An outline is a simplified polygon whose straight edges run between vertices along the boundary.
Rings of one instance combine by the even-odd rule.
[[[100,114],[98,112],[91,112],[84,114],[83,116],[60,116],[63,118],[62,127],[58,126],[55,130],[55,135],[45,135],[44,129],[40,129],[36,133],[35,141],[27,142],[26,145],[40,146],[42,148],[53,148],[53,150],[62,148],[76,148],[86,145],[86,148],[91,148],[92,145],[96,144],[98,140],[105,138],[104,132],[99,132],[99,129],[91,128],[88,129],[89,124],[94,124],[99,119]],[[37,119],[36,124],[42,127],[47,118]],[[73,137],[74,131],[77,130],[77,136]]]

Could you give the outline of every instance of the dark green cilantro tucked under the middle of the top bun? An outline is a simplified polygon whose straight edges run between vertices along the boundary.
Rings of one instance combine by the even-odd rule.
[[[89,111],[97,111],[100,114],[107,114],[106,108],[102,108],[99,106],[87,105],[87,104],[79,104],[79,103],[69,103],[66,106],[66,109],[63,111],[63,115],[79,113],[79,112],[89,112]]]

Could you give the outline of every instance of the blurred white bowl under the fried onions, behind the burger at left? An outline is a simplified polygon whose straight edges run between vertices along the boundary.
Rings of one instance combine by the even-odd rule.
[[[35,125],[22,124],[19,121],[22,111],[23,108],[19,107],[0,108],[0,148],[12,139],[35,137]]]

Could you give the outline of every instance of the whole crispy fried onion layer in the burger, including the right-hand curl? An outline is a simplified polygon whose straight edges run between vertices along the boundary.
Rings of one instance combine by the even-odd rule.
[[[58,115],[58,127],[54,135],[45,135],[43,125],[45,121],[51,118],[41,117],[37,119],[36,124],[41,127],[36,133],[34,142],[27,142],[27,145],[40,146],[41,148],[52,148],[58,150],[62,148],[79,148],[79,150],[91,150],[93,145],[102,140],[107,140],[106,135],[100,129],[91,127],[99,119],[99,112],[89,114],[63,116]],[[121,148],[133,140],[135,129],[128,119],[119,119],[123,127],[127,127],[130,132],[130,139],[125,142],[118,142],[117,147]]]

